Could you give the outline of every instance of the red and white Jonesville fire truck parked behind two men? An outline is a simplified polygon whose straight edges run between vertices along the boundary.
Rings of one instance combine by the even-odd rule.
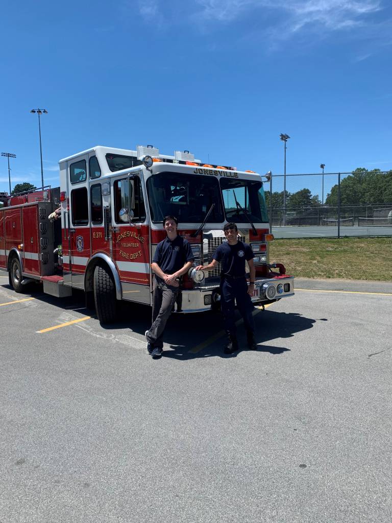
[[[97,146],[59,164],[60,187],[2,196],[0,269],[16,292],[32,281],[57,297],[81,289],[101,323],[116,319],[120,300],[151,305],[151,260],[166,236],[162,220],[173,214],[194,266],[211,261],[225,241],[223,226],[235,222],[239,239],[255,253],[252,300],[265,304],[294,294],[294,278],[283,265],[269,264],[273,236],[259,174],[203,164],[189,151],[162,155],[151,145]],[[175,312],[217,308],[220,271],[220,264],[205,275],[191,268]]]

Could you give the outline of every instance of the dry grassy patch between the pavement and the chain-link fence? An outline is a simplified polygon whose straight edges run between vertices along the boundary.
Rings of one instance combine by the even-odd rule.
[[[298,278],[392,281],[392,238],[274,240],[270,260]]]

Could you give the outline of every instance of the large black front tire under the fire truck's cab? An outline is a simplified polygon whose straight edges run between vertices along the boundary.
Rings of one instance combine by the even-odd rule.
[[[100,265],[94,271],[94,301],[99,323],[116,321],[116,286],[109,269]]]

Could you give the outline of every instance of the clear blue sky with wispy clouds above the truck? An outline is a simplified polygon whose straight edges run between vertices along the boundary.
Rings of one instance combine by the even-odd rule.
[[[280,133],[287,173],[392,168],[387,0],[22,0],[0,24],[12,186],[40,185],[37,107],[53,186],[60,158],[94,145],[278,174]]]

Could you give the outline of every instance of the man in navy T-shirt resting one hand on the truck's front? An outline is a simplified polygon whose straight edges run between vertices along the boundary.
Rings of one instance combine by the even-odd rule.
[[[237,225],[227,223],[223,231],[227,242],[222,243],[215,251],[209,265],[196,267],[201,270],[213,269],[218,261],[222,262],[221,308],[224,326],[228,335],[225,354],[233,354],[238,350],[235,324],[235,302],[244,319],[248,347],[257,349],[255,342],[255,322],[253,321],[253,305],[250,297],[255,291],[255,265],[253,252],[247,243],[237,240]],[[245,260],[249,265],[250,282],[246,281]]]

